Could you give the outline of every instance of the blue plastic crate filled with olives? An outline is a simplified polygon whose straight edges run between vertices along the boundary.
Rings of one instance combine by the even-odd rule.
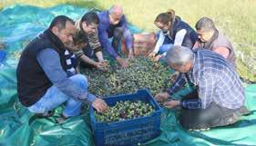
[[[161,108],[148,90],[108,96],[108,112],[90,107],[90,122],[97,146],[138,145],[160,134]]]

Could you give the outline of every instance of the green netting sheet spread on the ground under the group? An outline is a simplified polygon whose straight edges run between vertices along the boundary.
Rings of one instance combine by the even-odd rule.
[[[53,117],[33,119],[33,114],[17,101],[15,80],[16,53],[29,40],[44,31],[54,16],[68,15],[78,19],[86,11],[71,5],[51,8],[14,5],[0,12],[0,39],[5,43],[7,52],[5,65],[0,68],[0,145],[94,145],[87,110],[61,124],[56,123],[56,118],[62,107],[56,109]],[[133,33],[140,32],[134,25],[130,28]],[[177,97],[188,91],[182,90]],[[176,112],[165,110],[160,136],[145,145],[256,145],[256,84],[246,87],[246,106],[251,114],[243,116],[240,122],[205,132],[184,131],[177,123]]]

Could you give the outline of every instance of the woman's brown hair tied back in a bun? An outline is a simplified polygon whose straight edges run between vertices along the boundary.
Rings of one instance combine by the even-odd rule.
[[[155,24],[156,23],[161,23],[161,24],[172,24],[172,22],[175,20],[175,11],[172,9],[169,9],[166,13],[161,13],[157,16],[155,19]]]

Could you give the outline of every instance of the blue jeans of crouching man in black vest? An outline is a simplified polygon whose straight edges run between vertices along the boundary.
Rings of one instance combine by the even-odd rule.
[[[79,84],[81,88],[87,90],[87,78],[81,74],[76,74],[69,77],[74,83]],[[54,110],[56,107],[66,102],[66,107],[63,111],[65,117],[76,116],[80,113],[82,102],[75,100],[73,97],[61,92],[55,85],[50,87],[46,94],[34,105],[28,107],[30,112],[45,113]]]

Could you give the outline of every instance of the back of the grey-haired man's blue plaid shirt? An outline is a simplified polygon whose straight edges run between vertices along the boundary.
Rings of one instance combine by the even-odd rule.
[[[196,80],[199,83],[199,88],[205,85],[200,84],[201,79],[213,79],[210,81],[214,86],[212,101],[229,109],[241,108],[245,98],[244,88],[234,67],[220,54],[208,50],[196,50],[195,54],[196,61],[200,62],[200,65],[194,68],[194,72],[200,74]],[[229,102],[230,99],[233,102]]]

